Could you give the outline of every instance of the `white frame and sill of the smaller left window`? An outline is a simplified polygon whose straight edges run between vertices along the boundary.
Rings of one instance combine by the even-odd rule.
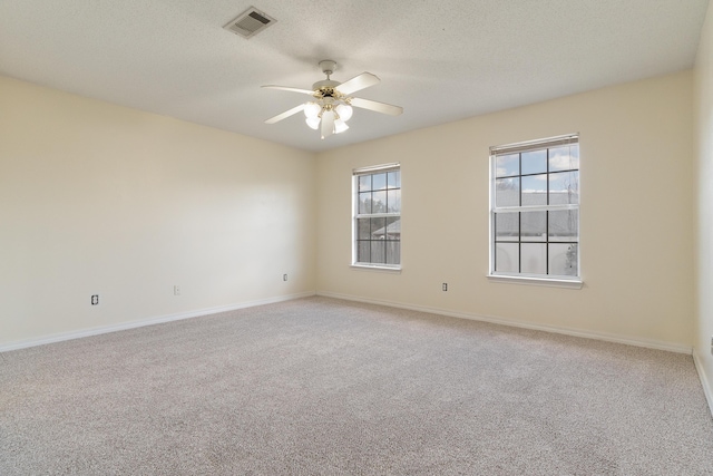
[[[387,213],[360,213],[360,208],[359,208],[359,178],[364,176],[364,175],[378,175],[378,174],[384,174],[384,173],[389,173],[389,172],[399,172],[399,212],[387,212]],[[401,233],[399,232],[399,263],[378,263],[378,262],[360,262],[359,261],[359,242],[363,241],[359,239],[359,220],[360,218],[392,218],[392,217],[398,217],[399,221],[401,221],[401,211],[402,211],[402,200],[401,200],[401,164],[400,163],[391,163],[391,164],[382,164],[382,165],[374,165],[374,166],[369,166],[369,167],[361,167],[361,168],[354,168],[352,171],[352,260],[351,260],[351,266],[352,268],[358,268],[358,269],[373,269],[373,270],[381,270],[381,271],[395,271],[395,272],[400,272],[401,271]],[[384,191],[388,190],[395,190],[395,188],[384,188]],[[373,192],[373,190],[372,190]],[[388,225],[387,225],[388,226]],[[374,240],[369,240],[374,241]],[[395,241],[395,240],[394,240]]]

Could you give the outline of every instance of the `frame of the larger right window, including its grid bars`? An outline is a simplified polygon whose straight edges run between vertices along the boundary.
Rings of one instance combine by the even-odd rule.
[[[531,153],[537,150],[548,150],[557,147],[570,146],[570,145],[579,145],[579,134],[567,134],[563,136],[548,137],[536,140],[528,140],[515,144],[507,144],[501,146],[490,147],[489,155],[489,237],[488,237],[488,246],[489,246],[489,263],[488,263],[488,279],[494,282],[502,282],[502,283],[511,283],[511,284],[535,284],[535,285],[547,285],[547,286],[557,286],[557,288],[573,288],[573,289],[582,289],[584,282],[582,280],[582,214],[580,214],[580,169],[582,164],[579,159],[577,161],[577,168],[569,168],[565,171],[551,171],[550,169],[550,156],[547,153],[546,156],[546,171],[545,172],[536,172],[536,173],[524,173],[522,171],[522,157],[524,153]],[[506,176],[498,177],[497,175],[497,157],[502,157],[510,154],[519,154],[518,157],[518,172],[516,175],[507,175],[508,178],[517,178],[520,185],[518,185],[518,205],[507,205],[507,206],[498,206],[496,202],[497,194],[497,179],[502,179]],[[577,155],[579,157],[579,154]],[[577,172],[577,182],[578,182],[578,197],[576,204],[550,204],[550,188],[549,184],[551,182],[551,174],[557,173],[572,173],[573,171]],[[524,205],[522,204],[522,187],[521,182],[524,177],[531,177],[540,174],[547,174],[547,203],[538,204],[538,205]],[[550,215],[547,213],[545,215],[545,240],[530,240],[522,241],[522,212],[558,212],[558,211],[577,211],[577,230],[576,237],[572,241],[550,241],[549,236],[549,218]],[[496,214],[498,213],[518,213],[518,225],[517,225],[517,240],[498,240],[496,235]],[[531,216],[531,215],[530,215]],[[496,251],[498,243],[517,243],[518,244],[518,271],[496,271]],[[524,273],[522,272],[522,263],[521,259],[521,245],[533,243],[543,243],[545,244],[545,266],[546,273]],[[577,246],[577,273],[576,275],[560,275],[560,274],[549,274],[549,247],[550,244],[557,243],[576,243]]]

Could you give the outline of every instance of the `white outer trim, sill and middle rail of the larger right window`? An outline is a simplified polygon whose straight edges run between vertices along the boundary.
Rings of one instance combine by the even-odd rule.
[[[490,147],[490,154],[488,156],[488,179],[490,187],[490,203],[488,204],[488,274],[486,275],[488,281],[494,283],[504,283],[504,284],[525,284],[525,285],[538,285],[538,286],[547,286],[547,288],[565,288],[565,289],[582,289],[584,288],[584,280],[582,279],[582,242],[580,236],[577,234],[577,272],[578,276],[573,279],[567,279],[563,276],[553,276],[547,278],[544,275],[527,275],[527,274],[500,274],[495,272],[495,241],[492,236],[492,214],[495,211],[495,174],[492,171],[495,164],[495,156],[497,154],[506,154],[506,153],[517,153],[522,150],[529,150],[537,146],[551,147],[556,145],[566,145],[572,142],[572,139],[576,138],[577,144],[579,144],[579,133],[566,134],[563,136],[555,136],[544,139],[536,140],[526,140],[516,144],[508,144],[504,146],[495,146]],[[559,144],[558,144],[559,143]],[[582,164],[579,164],[579,171],[582,169]],[[582,183],[579,184],[579,194],[582,196]],[[548,206],[527,206],[527,211],[551,211],[551,210],[580,210],[580,204],[577,205],[548,205]],[[521,206],[502,206],[499,207],[498,211],[507,212],[507,211],[521,211]],[[582,212],[579,212],[579,230],[582,230]]]

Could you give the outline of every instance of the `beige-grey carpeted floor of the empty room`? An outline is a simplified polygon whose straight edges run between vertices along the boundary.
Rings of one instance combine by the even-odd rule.
[[[309,298],[0,353],[1,475],[713,475],[692,358]]]

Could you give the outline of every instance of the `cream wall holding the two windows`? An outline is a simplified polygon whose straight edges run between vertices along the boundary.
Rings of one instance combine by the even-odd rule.
[[[322,153],[318,292],[690,350],[692,128],[684,71]],[[584,289],[489,282],[489,146],[568,133],[580,134]],[[351,171],[390,162],[403,270],[351,269]]]

